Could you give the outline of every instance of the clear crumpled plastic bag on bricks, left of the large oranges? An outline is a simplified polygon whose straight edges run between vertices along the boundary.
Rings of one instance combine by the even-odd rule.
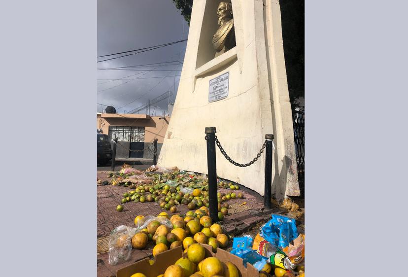
[[[136,228],[121,225],[110,233],[109,257],[110,265],[117,265],[129,260],[132,251],[132,237],[136,234]]]

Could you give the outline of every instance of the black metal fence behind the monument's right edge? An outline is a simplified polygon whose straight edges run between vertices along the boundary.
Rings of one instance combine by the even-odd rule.
[[[305,113],[293,111],[293,131],[295,135],[296,163],[301,195],[305,195]]]

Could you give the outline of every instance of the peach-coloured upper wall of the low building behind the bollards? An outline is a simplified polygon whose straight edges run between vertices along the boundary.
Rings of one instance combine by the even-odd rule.
[[[145,127],[144,141],[151,142],[157,138],[158,143],[163,143],[170,117],[159,119],[161,116],[152,116],[150,119],[144,118],[97,118],[97,129],[102,129],[102,133],[109,135],[109,126],[132,126]]]

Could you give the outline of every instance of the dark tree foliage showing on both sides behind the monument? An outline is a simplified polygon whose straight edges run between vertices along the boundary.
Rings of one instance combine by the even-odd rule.
[[[172,0],[190,25],[193,0]],[[305,97],[305,0],[280,0],[283,51],[292,107]]]

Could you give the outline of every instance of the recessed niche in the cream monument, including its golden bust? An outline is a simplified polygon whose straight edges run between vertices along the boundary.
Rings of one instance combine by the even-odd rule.
[[[196,69],[235,46],[234,13],[231,1],[206,1]]]

